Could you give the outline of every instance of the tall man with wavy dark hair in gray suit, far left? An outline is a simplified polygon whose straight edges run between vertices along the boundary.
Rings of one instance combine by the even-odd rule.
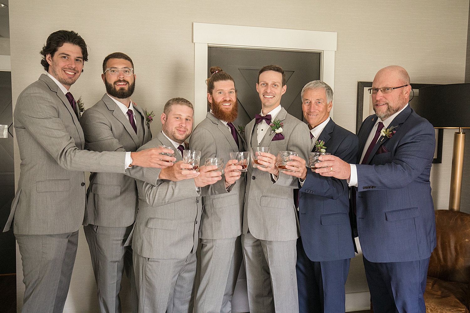
[[[13,115],[20,179],[4,231],[13,224],[23,263],[22,312],[60,313],[69,290],[85,211],[85,173],[123,173],[155,183],[153,169],[174,160],[159,153],[84,149],[79,107],[69,92],[88,60],[74,31],[49,35],[41,51],[47,71],[18,96]],[[163,159],[163,160],[162,160]],[[138,165],[129,168],[129,166]]]

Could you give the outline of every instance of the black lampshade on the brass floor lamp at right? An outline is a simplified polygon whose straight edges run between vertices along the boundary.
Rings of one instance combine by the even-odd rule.
[[[434,127],[470,127],[470,83],[420,88],[413,108]]]

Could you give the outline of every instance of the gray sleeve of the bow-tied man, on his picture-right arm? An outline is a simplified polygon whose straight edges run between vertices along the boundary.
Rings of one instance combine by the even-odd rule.
[[[308,160],[311,145],[312,140],[310,140],[307,125],[303,122],[299,122],[290,134],[286,150],[295,151],[298,153],[299,157]],[[277,181],[274,184],[296,189],[298,188],[298,178],[279,172]]]

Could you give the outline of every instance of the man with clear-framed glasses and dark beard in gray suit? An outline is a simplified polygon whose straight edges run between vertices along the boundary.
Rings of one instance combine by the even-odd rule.
[[[93,151],[137,151],[151,139],[149,123],[131,95],[135,87],[131,58],[115,52],[104,58],[106,93],[80,119],[85,148]],[[135,179],[118,173],[91,173],[83,229],[90,248],[101,313],[120,313],[121,278],[131,282],[131,309],[137,313],[132,248],[124,243],[137,214]]]

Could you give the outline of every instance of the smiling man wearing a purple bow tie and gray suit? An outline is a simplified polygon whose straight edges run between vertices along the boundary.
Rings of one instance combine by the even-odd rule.
[[[306,159],[311,141],[307,125],[281,107],[286,89],[281,67],[267,65],[260,69],[256,90],[261,114],[245,127],[248,149],[271,148],[271,153],[258,157],[265,168],[248,167],[242,246],[250,312],[298,312],[298,221],[293,196],[298,180],[280,173],[275,162],[280,151],[294,151]],[[283,124],[279,133],[270,126],[274,122]]]

